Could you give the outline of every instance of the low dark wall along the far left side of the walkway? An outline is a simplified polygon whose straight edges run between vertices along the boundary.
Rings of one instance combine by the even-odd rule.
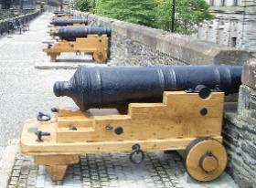
[[[27,23],[30,20],[34,19],[39,14],[40,14],[40,11],[36,11],[34,13],[29,13],[29,14],[22,15],[22,16],[16,16],[16,17],[0,20],[0,36],[8,31],[8,22],[9,21],[12,21],[15,19],[21,19],[22,23]]]

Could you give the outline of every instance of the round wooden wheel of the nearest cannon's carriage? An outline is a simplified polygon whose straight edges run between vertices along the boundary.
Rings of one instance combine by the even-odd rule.
[[[227,152],[222,143],[210,138],[191,141],[185,151],[187,173],[199,182],[212,181],[227,165]]]

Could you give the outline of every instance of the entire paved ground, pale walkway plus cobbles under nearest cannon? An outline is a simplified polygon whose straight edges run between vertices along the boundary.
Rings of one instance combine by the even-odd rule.
[[[0,38],[0,159],[8,141],[19,138],[24,120],[35,117],[38,111],[49,113],[53,106],[73,105],[69,98],[56,98],[52,86],[57,80],[69,79],[74,69],[35,68],[35,64],[48,63],[41,42],[48,37],[50,17],[37,17],[23,35]],[[62,186],[55,186],[45,168],[35,166],[31,157],[16,154],[8,184],[9,188],[236,187],[226,173],[213,183],[194,182],[187,177],[176,152],[148,152],[141,165],[133,165],[123,153],[81,155],[80,163],[69,167]]]

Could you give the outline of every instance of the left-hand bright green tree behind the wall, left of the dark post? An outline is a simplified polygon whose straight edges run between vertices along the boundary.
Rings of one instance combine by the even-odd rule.
[[[97,0],[95,14],[155,26],[155,0]]]

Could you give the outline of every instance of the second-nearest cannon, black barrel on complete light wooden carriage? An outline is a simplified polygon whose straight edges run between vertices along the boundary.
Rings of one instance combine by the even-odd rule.
[[[108,59],[110,28],[63,26],[54,35],[60,40],[54,44],[48,44],[48,47],[43,49],[52,61],[55,61],[62,52],[89,53],[98,63]]]

